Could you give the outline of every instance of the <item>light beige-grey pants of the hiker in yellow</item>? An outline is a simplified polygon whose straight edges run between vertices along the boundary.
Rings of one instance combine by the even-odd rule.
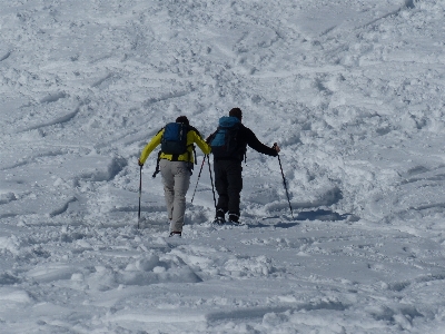
[[[186,213],[186,194],[190,186],[190,170],[185,161],[161,159],[159,169],[162,176],[164,195],[170,232],[181,232]]]

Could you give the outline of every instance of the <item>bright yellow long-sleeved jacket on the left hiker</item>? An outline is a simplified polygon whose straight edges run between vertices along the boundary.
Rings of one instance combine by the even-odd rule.
[[[152,137],[150,143],[148,143],[147,146],[142,149],[142,153],[140,154],[140,158],[139,158],[140,163],[142,163],[142,164],[146,163],[148,156],[160,144],[160,140],[162,139],[162,135],[164,135],[164,128],[155,137]],[[190,126],[189,130],[187,132],[187,153],[185,153],[184,155],[179,155],[178,161],[195,163],[194,153],[192,153],[192,145],[195,143],[198,145],[198,147],[201,149],[201,151],[205,155],[210,154],[210,151],[211,151],[210,146],[208,146],[208,144],[202,139],[202,137],[199,135],[199,131]],[[172,155],[167,155],[165,153],[161,153],[160,158],[171,161]]]

